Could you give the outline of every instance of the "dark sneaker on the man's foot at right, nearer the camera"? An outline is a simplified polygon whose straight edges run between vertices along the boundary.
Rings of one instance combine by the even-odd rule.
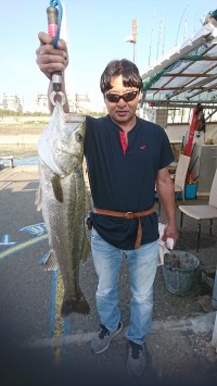
[[[131,340],[128,344],[127,372],[129,375],[141,376],[146,368],[146,357],[143,345]]]

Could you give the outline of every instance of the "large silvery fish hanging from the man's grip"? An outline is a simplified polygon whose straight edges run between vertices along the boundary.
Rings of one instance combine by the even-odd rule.
[[[49,260],[58,263],[63,279],[62,316],[89,313],[79,287],[79,264],[90,252],[85,217],[91,208],[84,178],[85,120],[67,114],[56,103],[38,141],[39,188],[37,209],[42,210],[49,236]],[[72,115],[71,115],[72,117]]]

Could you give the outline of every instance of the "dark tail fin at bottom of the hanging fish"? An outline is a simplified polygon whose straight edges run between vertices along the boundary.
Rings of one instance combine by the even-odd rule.
[[[80,294],[79,299],[64,299],[62,302],[61,307],[61,315],[67,316],[71,313],[81,313],[81,314],[88,314],[90,313],[90,306],[88,304],[87,300],[85,299],[84,295]]]

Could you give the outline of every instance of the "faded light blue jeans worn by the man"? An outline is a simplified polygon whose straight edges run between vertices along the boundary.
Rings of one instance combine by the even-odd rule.
[[[92,258],[99,284],[95,294],[97,309],[101,323],[110,331],[117,329],[120,321],[118,307],[118,278],[123,253],[129,264],[130,323],[126,338],[143,344],[151,328],[153,310],[153,283],[158,264],[158,241],[139,249],[122,250],[106,242],[92,228]]]

